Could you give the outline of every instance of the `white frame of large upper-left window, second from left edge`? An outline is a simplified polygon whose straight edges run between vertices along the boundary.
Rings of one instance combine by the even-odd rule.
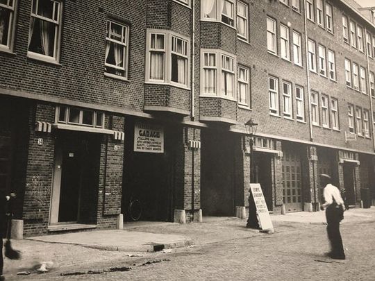
[[[15,0],[13,0],[15,1]],[[57,63],[60,59],[60,37],[61,37],[61,22],[62,22],[62,14],[63,14],[63,1],[55,1],[55,0],[49,0],[54,3],[53,5],[53,18],[50,19],[48,17],[44,17],[42,15],[38,15],[38,3],[39,0],[33,0],[33,3],[31,5],[31,22],[35,22],[35,19],[42,20],[44,22],[49,22],[50,24],[54,24],[55,26],[55,37],[53,40],[53,56],[47,56],[42,53],[36,53],[33,51],[29,51],[30,44],[32,40],[32,33],[33,33],[33,24],[30,24],[28,29],[28,36],[29,36],[29,42],[28,42],[28,51],[27,56],[29,58],[34,58],[37,60],[44,60],[46,62],[53,62]]]

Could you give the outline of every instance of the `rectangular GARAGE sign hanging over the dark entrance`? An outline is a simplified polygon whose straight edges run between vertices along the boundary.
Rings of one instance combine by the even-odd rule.
[[[134,125],[134,151],[164,153],[164,129],[153,124]]]

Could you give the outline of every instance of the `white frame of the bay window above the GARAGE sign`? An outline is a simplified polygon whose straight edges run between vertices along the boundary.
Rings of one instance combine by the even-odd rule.
[[[153,35],[163,35],[164,36],[164,46],[163,48],[151,48],[151,37]],[[183,51],[185,53],[177,53],[172,51],[172,40],[176,38],[177,40],[182,40]],[[156,79],[151,78],[151,53],[163,53],[163,78]],[[183,89],[190,88],[190,39],[188,37],[181,36],[172,31],[165,31],[160,29],[147,29],[147,48],[146,48],[146,71],[145,71],[145,83],[151,84],[167,84],[176,87],[181,87]],[[172,55],[181,56],[186,60],[185,64],[185,83],[178,83],[172,81]]]

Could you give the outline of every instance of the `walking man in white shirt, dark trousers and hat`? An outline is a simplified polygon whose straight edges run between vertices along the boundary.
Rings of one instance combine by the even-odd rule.
[[[338,187],[332,185],[332,179],[326,174],[320,175],[320,182],[324,187],[324,203],[321,210],[326,210],[327,235],[331,244],[331,252],[326,253],[333,259],[345,259],[344,247],[340,234],[340,221],[344,219],[345,205]]]

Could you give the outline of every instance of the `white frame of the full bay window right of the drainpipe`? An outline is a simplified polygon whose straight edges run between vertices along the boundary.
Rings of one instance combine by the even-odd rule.
[[[205,54],[215,55],[215,65],[205,65]],[[229,58],[231,61],[231,67],[225,68],[223,65],[223,58]],[[201,77],[202,77],[202,83],[201,83],[201,96],[217,96],[223,99],[228,99],[231,101],[237,101],[236,91],[237,91],[237,83],[235,83],[237,79],[235,67],[237,65],[237,59],[235,56],[231,53],[226,53],[221,50],[217,49],[201,49]],[[205,91],[205,69],[212,69],[212,71],[215,71],[215,92],[206,92]],[[226,94],[223,94],[222,92],[222,86],[224,83],[224,80],[222,79],[223,74],[233,75],[233,96],[228,96]]]

